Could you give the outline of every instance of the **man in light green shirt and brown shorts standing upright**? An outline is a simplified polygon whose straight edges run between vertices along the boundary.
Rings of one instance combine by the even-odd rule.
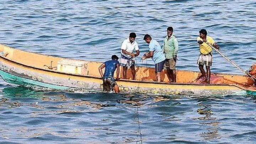
[[[167,69],[170,82],[176,82],[176,60],[178,53],[178,41],[173,35],[173,28],[167,28],[167,36],[164,39],[162,50],[165,55],[165,67]]]

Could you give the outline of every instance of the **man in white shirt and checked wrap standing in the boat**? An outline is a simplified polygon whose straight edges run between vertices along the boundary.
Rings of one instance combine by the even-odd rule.
[[[121,66],[123,68],[123,79],[127,79],[127,68],[132,70],[133,80],[135,80],[135,62],[134,57],[138,57],[139,55],[139,47],[137,42],[135,41],[136,33],[131,32],[129,38],[123,41],[121,46]],[[133,53],[134,49],[136,53]]]

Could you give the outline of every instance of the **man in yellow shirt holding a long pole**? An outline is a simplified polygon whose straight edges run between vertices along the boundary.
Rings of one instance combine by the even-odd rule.
[[[207,36],[207,31],[202,29],[199,31],[199,37],[197,38],[197,43],[200,48],[200,55],[197,60],[199,69],[203,75],[203,81],[210,84],[210,66],[212,66],[212,47],[219,49],[218,44],[216,44],[210,36]],[[210,46],[209,46],[210,45]],[[206,65],[207,76],[205,74],[203,65]]]

